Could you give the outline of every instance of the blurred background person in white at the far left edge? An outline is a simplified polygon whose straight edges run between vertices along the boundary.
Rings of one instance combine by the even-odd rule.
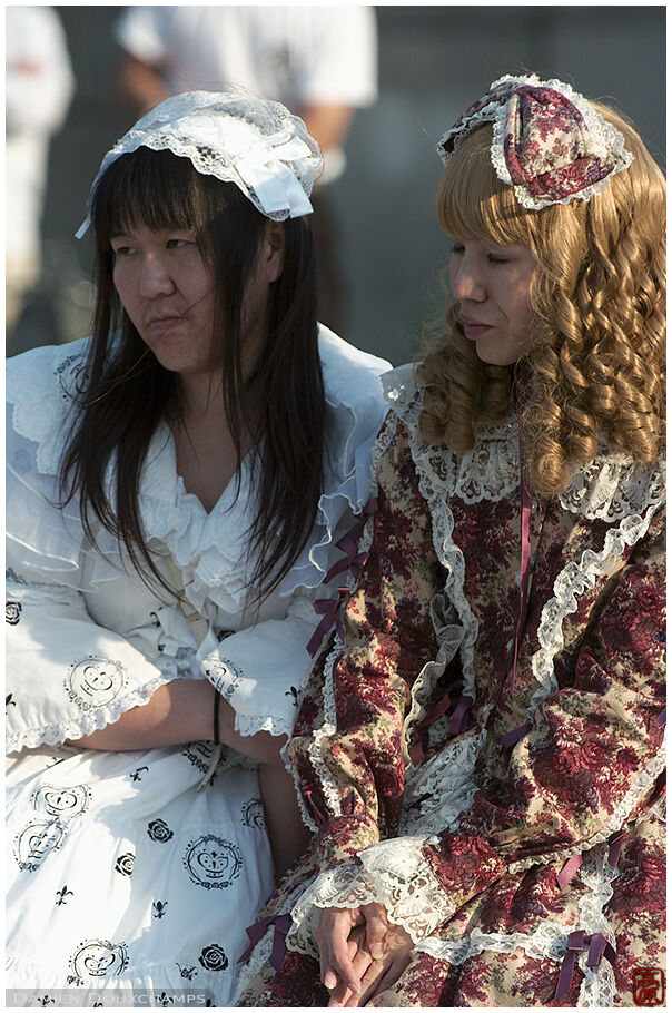
[[[75,78],[51,7],[6,8],[6,325],[8,348],[41,266],[49,141],[63,125]]]

